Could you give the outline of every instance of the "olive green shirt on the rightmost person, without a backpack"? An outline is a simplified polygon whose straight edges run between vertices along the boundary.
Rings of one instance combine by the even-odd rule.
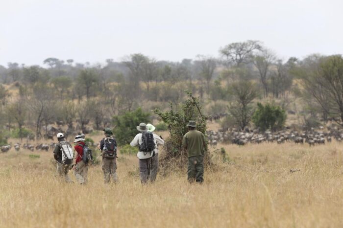
[[[205,136],[199,131],[191,130],[183,137],[182,145],[187,149],[188,158],[204,155]]]

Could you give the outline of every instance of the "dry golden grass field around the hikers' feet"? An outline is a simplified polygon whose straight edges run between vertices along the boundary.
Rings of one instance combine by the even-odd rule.
[[[118,159],[120,183],[96,166],[81,186],[54,177],[51,152],[12,149],[0,154],[0,227],[343,227],[342,144],[220,146],[231,162],[213,153],[204,184],[182,170],[147,186],[135,156]]]

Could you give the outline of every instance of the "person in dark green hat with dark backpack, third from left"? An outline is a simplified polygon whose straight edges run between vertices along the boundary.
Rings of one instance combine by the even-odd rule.
[[[112,130],[110,128],[105,128],[105,137],[100,141],[100,151],[102,152],[102,171],[104,175],[104,182],[109,183],[111,180],[113,182],[118,182],[117,175],[117,141],[113,137]]]

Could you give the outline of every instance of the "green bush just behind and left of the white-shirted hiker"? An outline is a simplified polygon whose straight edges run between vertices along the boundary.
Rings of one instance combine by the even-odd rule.
[[[122,115],[113,117],[113,124],[116,126],[113,133],[119,144],[129,144],[131,140],[139,133],[136,129],[140,123],[147,123],[150,120],[150,114],[142,111],[141,108],[126,112]]]

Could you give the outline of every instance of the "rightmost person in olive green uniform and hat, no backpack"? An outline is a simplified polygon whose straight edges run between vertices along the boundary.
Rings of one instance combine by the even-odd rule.
[[[202,183],[204,181],[204,134],[196,130],[196,121],[189,121],[188,132],[184,135],[182,145],[188,153],[188,182]]]

